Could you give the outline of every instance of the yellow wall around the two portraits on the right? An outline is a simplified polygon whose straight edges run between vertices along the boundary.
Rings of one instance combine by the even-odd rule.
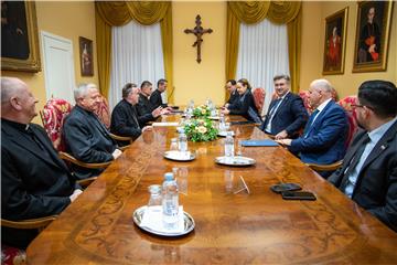
[[[343,75],[322,76],[325,18],[348,7],[345,71]],[[312,80],[328,78],[339,96],[356,94],[360,84],[367,80],[388,80],[397,83],[397,4],[395,2],[389,36],[386,72],[352,73],[356,34],[356,2],[303,2],[301,89],[307,89]]]

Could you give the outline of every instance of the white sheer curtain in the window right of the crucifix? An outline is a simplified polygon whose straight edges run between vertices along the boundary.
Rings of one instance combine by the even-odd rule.
[[[267,19],[254,25],[240,23],[236,78],[247,78],[253,89],[265,88],[262,114],[270,104],[277,74],[289,75],[287,25]]]

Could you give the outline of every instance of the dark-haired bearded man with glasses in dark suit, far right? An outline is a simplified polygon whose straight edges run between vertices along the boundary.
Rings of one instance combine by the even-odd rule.
[[[358,88],[358,131],[329,181],[397,232],[397,88],[367,81]]]

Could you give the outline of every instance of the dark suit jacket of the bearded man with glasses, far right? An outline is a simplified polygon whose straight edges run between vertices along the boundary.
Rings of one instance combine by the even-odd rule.
[[[344,172],[366,131],[355,136],[342,167],[329,181],[344,187]],[[344,191],[344,190],[343,190]],[[375,145],[358,173],[352,200],[397,232],[397,121]]]

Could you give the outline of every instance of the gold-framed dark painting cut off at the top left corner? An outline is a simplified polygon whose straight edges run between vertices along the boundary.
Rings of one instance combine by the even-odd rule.
[[[1,1],[1,70],[41,71],[33,1]]]

